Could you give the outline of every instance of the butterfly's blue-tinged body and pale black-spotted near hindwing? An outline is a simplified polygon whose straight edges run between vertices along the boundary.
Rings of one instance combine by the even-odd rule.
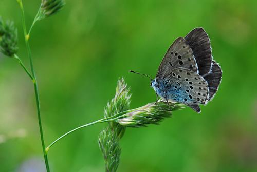
[[[191,81],[192,77],[194,81]],[[208,97],[208,86],[204,78],[186,68],[172,70],[159,82],[155,79],[152,87],[161,98],[186,104],[195,104],[198,101],[205,104]],[[194,87],[198,88],[198,96],[194,95]]]

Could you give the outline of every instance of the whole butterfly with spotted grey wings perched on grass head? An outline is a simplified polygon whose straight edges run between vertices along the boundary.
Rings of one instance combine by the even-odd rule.
[[[200,113],[199,104],[206,105],[213,99],[221,78],[222,70],[213,60],[209,36],[198,27],[172,43],[150,84],[167,103],[180,102]]]

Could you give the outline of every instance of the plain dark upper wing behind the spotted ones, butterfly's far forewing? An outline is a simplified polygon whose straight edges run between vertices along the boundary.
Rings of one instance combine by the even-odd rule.
[[[186,44],[193,51],[200,75],[209,73],[212,65],[210,39],[201,27],[193,29],[185,36]]]

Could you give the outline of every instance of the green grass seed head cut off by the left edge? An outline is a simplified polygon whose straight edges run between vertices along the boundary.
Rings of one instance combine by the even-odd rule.
[[[3,22],[0,17],[0,52],[12,57],[18,51],[17,28],[12,21]]]

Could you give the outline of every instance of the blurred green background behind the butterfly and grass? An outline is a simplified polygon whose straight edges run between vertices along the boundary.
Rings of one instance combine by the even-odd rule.
[[[41,1],[23,2],[29,27]],[[30,39],[46,144],[102,118],[119,77],[131,87],[131,108],[155,101],[150,81],[128,70],[154,77],[170,44],[201,26],[223,69],[216,97],[201,106],[201,114],[186,108],[161,125],[127,128],[118,171],[257,171],[256,7],[256,1],[235,0],[67,1],[61,12],[35,25]],[[0,15],[15,21],[18,55],[28,66],[16,1],[1,0]],[[52,171],[103,171],[97,139],[105,125],[54,145]],[[32,84],[3,55],[0,171],[45,171]]]

